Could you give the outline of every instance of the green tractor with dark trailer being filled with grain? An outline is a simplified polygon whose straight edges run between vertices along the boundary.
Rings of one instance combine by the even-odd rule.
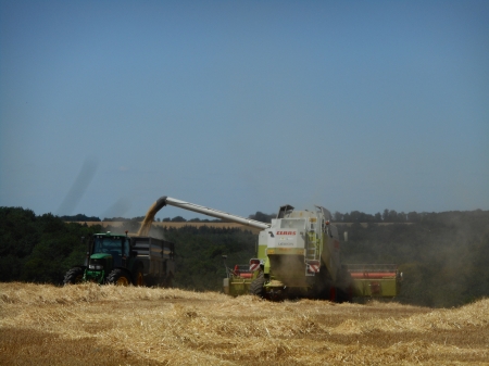
[[[88,238],[85,264],[72,267],[63,283],[172,287],[174,272],[173,243],[108,231]]]

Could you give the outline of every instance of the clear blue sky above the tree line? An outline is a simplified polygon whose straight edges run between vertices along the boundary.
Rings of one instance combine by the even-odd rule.
[[[0,205],[489,210],[487,1],[0,0]],[[163,209],[156,217],[191,212]]]

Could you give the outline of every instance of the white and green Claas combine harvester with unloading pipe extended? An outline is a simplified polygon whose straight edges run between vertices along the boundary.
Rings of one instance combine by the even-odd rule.
[[[399,293],[402,276],[393,265],[341,265],[338,230],[330,223],[329,211],[322,206],[294,211],[287,204],[267,224],[170,197],[160,198],[153,206],[159,211],[165,205],[262,230],[255,257],[249,265],[236,265],[233,269],[226,265],[224,292],[227,294],[344,302],[355,296],[393,298]]]

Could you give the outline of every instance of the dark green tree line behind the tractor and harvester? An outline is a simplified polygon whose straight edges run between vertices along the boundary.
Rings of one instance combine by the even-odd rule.
[[[265,214],[250,218],[272,218],[261,215]],[[348,241],[341,240],[341,262],[398,264],[404,278],[398,299],[402,303],[456,306],[489,295],[489,211],[429,213],[405,223],[378,225],[349,217],[339,222],[340,238],[348,232]],[[127,220],[123,227],[103,228],[0,207],[0,281],[61,285],[65,272],[83,263],[82,237],[106,230],[137,232],[139,225]],[[153,226],[150,235],[175,243],[175,286],[198,291],[221,291],[222,255],[227,255],[228,265],[247,264],[255,255],[258,240],[250,230],[210,226]]]

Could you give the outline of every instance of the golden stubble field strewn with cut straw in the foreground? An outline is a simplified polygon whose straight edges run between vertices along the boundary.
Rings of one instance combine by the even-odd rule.
[[[489,365],[489,299],[430,310],[0,283],[1,365]]]

